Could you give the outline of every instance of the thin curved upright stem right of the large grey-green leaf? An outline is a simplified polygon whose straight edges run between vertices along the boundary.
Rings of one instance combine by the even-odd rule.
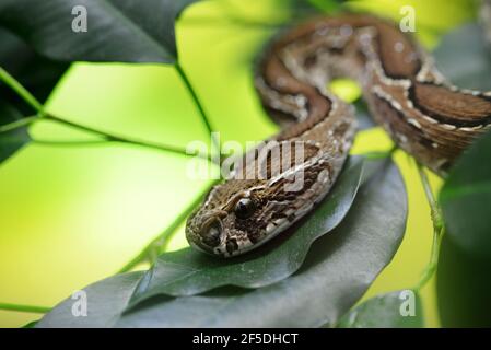
[[[431,189],[426,173],[424,173],[424,170],[421,166],[421,164],[417,163],[417,166],[418,166],[418,172],[419,172],[419,175],[421,178],[421,184],[423,185],[424,192],[426,195],[428,203],[430,205],[431,221],[433,223],[433,242],[432,242],[432,247],[431,247],[430,261],[428,262],[426,267],[424,268],[424,270],[421,275],[420,281],[418,282],[417,287],[414,288],[416,290],[420,290],[428,283],[428,281],[430,281],[430,279],[436,272],[437,265],[439,265],[440,243],[442,242],[442,237],[444,235],[445,228],[443,224],[439,203],[433,196],[433,191]]]

